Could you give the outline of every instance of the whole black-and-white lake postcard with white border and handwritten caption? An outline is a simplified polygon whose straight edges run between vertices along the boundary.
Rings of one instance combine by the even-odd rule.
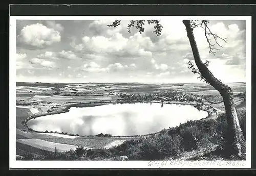
[[[10,16],[10,163],[249,168],[250,35],[248,16]]]

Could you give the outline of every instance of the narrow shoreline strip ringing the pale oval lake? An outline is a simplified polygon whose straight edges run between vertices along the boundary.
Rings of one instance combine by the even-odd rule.
[[[122,103],[159,103],[159,104],[179,104],[179,105],[191,105],[191,106],[196,106],[198,103],[197,102],[161,102],[161,101],[157,101],[157,100],[144,100],[144,101],[137,101],[137,100],[133,100],[133,101],[128,101],[128,100],[114,100],[114,101],[101,101],[101,102],[94,102],[94,103],[72,103],[72,104],[68,104],[68,105],[62,105],[61,107],[52,110],[51,112],[39,112],[36,114],[32,114],[31,116],[27,117],[24,120],[24,126],[27,128],[27,130],[35,132],[35,133],[45,133],[45,134],[49,134],[49,132],[42,132],[42,131],[35,131],[31,128],[28,127],[27,122],[31,119],[35,119],[38,117],[42,117],[42,116],[47,116],[47,115],[54,115],[54,114],[61,114],[61,113],[66,113],[69,112],[70,108],[72,107],[76,107],[76,108],[86,108],[86,107],[95,107],[95,106],[101,106],[101,105],[108,105],[108,104],[122,104]],[[210,105],[211,106],[211,105]],[[200,120],[207,120],[207,119],[211,119],[214,118],[214,116],[218,116],[218,113],[216,112],[216,115],[212,114],[215,110],[214,108],[212,109],[204,109],[202,108],[202,106],[197,107],[199,110],[201,111],[206,111],[208,112],[208,116],[204,117]],[[163,129],[164,130],[164,129]],[[168,130],[168,129],[166,129]],[[162,130],[161,130],[162,131]],[[132,136],[112,136],[112,137],[107,137],[107,138],[134,138],[134,137],[145,137],[145,136],[151,136],[151,135],[155,135],[155,134],[159,134],[161,131],[159,132],[155,132],[155,133],[150,133],[150,134],[145,134],[145,135],[132,135]],[[53,132],[55,133],[55,132]],[[62,134],[62,135],[68,135],[68,136],[77,136],[77,135],[70,135],[70,134],[63,134],[60,132],[56,132],[55,134]],[[95,135],[78,135],[77,138],[81,138],[81,137],[97,137]]]

